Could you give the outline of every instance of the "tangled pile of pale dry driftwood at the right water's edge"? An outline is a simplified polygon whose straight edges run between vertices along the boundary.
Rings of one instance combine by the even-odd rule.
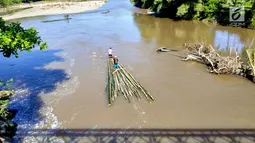
[[[211,45],[203,42],[186,43],[183,46],[188,51],[183,60],[193,60],[205,64],[210,73],[236,74],[247,78],[254,77],[252,68],[243,64],[237,52],[234,56],[220,56]]]

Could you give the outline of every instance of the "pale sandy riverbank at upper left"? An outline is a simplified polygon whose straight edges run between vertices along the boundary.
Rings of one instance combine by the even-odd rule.
[[[94,10],[105,4],[105,0],[85,1],[85,2],[35,2],[13,5],[7,8],[1,8],[0,15],[4,20],[17,18],[80,13],[88,10]],[[8,11],[10,11],[8,13]],[[15,12],[16,11],[16,12]]]

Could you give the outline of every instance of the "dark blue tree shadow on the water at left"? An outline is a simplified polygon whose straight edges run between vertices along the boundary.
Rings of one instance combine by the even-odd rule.
[[[0,77],[4,80],[13,78],[12,88],[16,95],[11,100],[10,109],[18,110],[14,122],[19,128],[31,129],[43,120],[40,109],[43,107],[41,93],[50,93],[57,84],[68,80],[62,69],[49,69],[44,66],[52,62],[64,61],[55,55],[61,50],[35,50],[22,52],[19,58],[0,57]],[[19,142],[19,141],[18,141]]]

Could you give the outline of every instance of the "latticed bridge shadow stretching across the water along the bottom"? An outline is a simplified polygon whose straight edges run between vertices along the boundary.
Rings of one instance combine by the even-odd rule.
[[[255,140],[255,129],[35,129],[22,130],[19,137],[40,137],[46,142],[171,142],[171,143],[248,143]]]

